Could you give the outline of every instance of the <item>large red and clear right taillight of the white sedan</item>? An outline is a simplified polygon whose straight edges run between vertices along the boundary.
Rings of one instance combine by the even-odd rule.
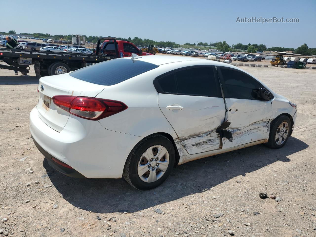
[[[116,100],[71,95],[53,96],[53,102],[73,115],[90,120],[103,119],[128,108]]]

